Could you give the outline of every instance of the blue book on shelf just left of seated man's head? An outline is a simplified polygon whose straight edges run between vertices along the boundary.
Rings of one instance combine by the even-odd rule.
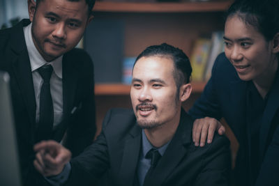
[[[125,57],[123,59],[123,70],[122,70],[122,83],[123,84],[131,84],[132,83],[132,71],[133,65],[135,63],[135,59],[137,57]]]

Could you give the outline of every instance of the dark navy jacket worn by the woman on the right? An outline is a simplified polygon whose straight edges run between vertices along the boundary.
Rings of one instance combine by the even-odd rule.
[[[279,72],[279,70],[278,70]],[[220,54],[213,66],[211,79],[201,98],[195,102],[189,114],[194,118],[205,116],[225,118],[239,141],[236,158],[236,185],[278,185],[279,183],[279,75],[269,92],[269,99],[259,129],[259,160],[262,168],[258,178],[250,176],[250,133],[246,130],[246,88],[248,82],[239,79],[225,54]]]

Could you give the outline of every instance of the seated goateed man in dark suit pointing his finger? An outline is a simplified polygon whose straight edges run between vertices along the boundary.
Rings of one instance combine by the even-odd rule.
[[[61,144],[36,144],[36,169],[66,185],[97,185],[104,174],[99,185],[229,185],[229,141],[216,136],[199,148],[191,140],[193,121],[181,109],[191,72],[181,49],[147,47],[133,68],[133,111],[110,110],[96,141],[70,162]]]

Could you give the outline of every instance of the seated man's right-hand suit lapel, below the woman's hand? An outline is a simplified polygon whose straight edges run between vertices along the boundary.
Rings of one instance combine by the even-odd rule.
[[[179,127],[177,127],[172,141],[167,146],[165,154],[154,169],[152,180],[146,180],[145,186],[163,185],[179,162],[187,155],[192,136],[192,123],[190,116],[182,109]]]

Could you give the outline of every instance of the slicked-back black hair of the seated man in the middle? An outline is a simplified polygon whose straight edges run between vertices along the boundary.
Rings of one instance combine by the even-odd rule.
[[[137,56],[135,63],[137,63],[140,58],[149,56],[169,57],[174,61],[173,74],[177,88],[180,88],[182,84],[188,84],[190,82],[192,67],[188,56],[181,49],[168,45],[167,43],[152,45],[144,49],[144,51]]]

